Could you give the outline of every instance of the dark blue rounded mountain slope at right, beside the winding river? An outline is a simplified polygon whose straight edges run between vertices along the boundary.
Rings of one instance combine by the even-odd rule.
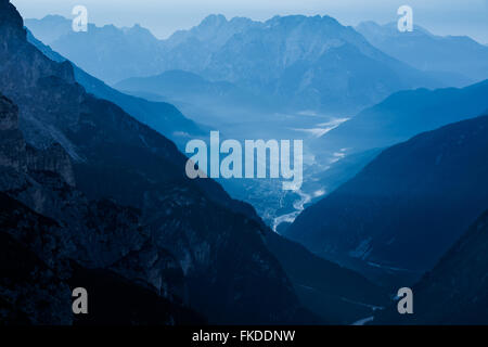
[[[425,271],[488,206],[487,158],[488,116],[421,133],[306,208],[286,235],[352,267]]]

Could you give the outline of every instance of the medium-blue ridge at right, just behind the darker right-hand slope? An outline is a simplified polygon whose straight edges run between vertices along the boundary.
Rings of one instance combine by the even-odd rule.
[[[382,150],[488,110],[488,80],[465,87],[400,91],[365,108],[312,143],[320,162],[345,157],[317,175],[329,191],[351,179]]]

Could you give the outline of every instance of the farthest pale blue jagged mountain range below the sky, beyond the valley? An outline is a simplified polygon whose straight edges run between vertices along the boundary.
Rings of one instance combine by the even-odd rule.
[[[90,25],[88,33],[46,35],[52,22],[63,27],[61,21],[48,16],[26,21],[26,26],[53,50],[108,83],[178,69],[232,82],[274,104],[330,112],[357,112],[400,89],[444,86],[330,16],[254,22],[210,15],[167,40],[157,40],[140,26]]]

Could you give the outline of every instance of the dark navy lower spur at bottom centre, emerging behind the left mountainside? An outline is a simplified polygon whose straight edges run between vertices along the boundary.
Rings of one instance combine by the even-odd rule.
[[[288,274],[301,303],[325,322],[350,324],[388,303],[382,287],[295,242],[270,232],[266,244]]]

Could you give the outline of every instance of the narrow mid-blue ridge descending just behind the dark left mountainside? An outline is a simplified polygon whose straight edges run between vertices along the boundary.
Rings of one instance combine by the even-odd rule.
[[[30,31],[27,31],[27,39],[51,60],[59,63],[66,61],[66,59],[59,53],[52,51],[49,47],[37,40]],[[139,121],[175,141],[180,149],[184,147],[189,138],[202,137],[204,134],[203,130],[200,129],[195,123],[185,118],[171,104],[165,102],[150,102],[141,98],[124,94],[85,73],[76,65],[73,65],[73,67],[76,81],[80,83],[87,92],[120,106]]]

